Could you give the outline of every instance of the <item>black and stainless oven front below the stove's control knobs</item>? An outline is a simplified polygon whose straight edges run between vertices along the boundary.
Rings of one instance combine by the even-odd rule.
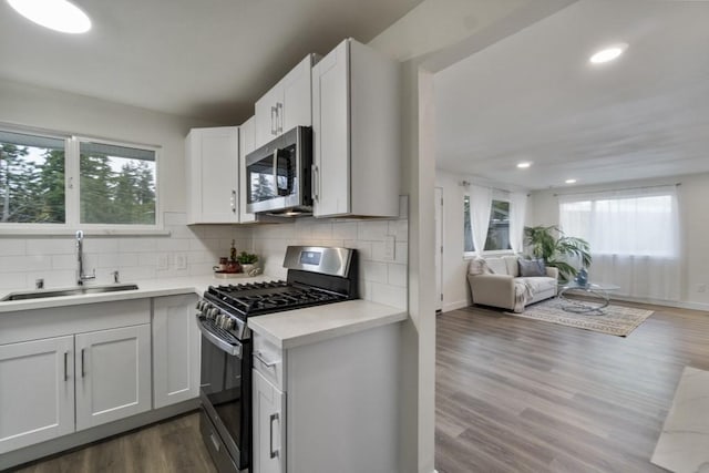
[[[226,341],[210,320],[202,330],[202,431],[220,473],[249,466],[251,453],[251,343]]]

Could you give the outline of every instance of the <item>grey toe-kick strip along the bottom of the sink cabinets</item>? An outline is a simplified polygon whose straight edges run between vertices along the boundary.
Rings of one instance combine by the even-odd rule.
[[[142,414],[121,419],[115,422],[99,425],[92,429],[82,430],[70,433],[47,442],[24,446],[0,455],[0,471],[21,465],[23,463],[33,462],[45,456],[54,455],[66,450],[72,450],[99,440],[106,439],[116,434],[121,434],[134,429],[138,429],[155,422],[169,419],[185,412],[194,411],[199,407],[199,399],[184,401],[177,404],[168,405]]]

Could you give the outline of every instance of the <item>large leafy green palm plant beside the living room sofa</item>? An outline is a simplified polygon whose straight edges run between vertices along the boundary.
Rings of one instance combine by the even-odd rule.
[[[564,235],[556,225],[524,227],[524,245],[535,258],[542,258],[546,266],[557,268],[563,281],[572,280],[579,270],[586,270],[590,266],[588,241]],[[578,258],[580,268],[571,265],[569,258]]]

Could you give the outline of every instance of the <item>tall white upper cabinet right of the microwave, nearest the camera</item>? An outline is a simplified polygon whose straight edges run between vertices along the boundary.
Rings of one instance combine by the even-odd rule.
[[[352,39],[312,68],[316,217],[399,215],[399,71]]]

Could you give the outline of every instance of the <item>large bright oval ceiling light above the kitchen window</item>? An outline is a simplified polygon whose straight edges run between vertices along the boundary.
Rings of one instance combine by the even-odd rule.
[[[8,0],[22,17],[62,33],[85,33],[91,20],[79,7],[66,0]]]

